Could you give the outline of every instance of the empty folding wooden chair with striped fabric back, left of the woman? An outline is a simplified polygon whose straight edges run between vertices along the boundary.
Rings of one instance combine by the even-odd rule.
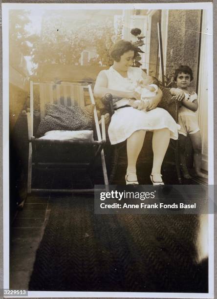
[[[38,97],[37,97],[38,89]],[[38,103],[37,103],[38,100]],[[94,104],[94,97],[90,85],[82,86],[75,85],[72,83],[34,83],[30,81],[30,109],[28,111],[23,111],[23,114],[27,115],[27,125],[28,125],[28,139],[29,139],[29,156],[28,156],[28,181],[27,181],[27,192],[93,192],[94,189],[40,189],[32,188],[32,167],[82,167],[86,170],[90,170],[94,166],[94,163],[98,157],[101,156],[102,170],[104,183],[108,186],[108,176],[106,170],[105,156],[104,156],[104,145],[106,144],[106,132],[105,132],[105,119],[104,116],[101,118],[101,130],[97,117],[96,107],[93,110],[94,116],[94,140],[43,140],[35,137],[35,117],[37,110],[40,110],[40,121],[45,116],[45,104],[61,104],[67,107],[80,106],[84,107],[87,104]],[[35,107],[36,106],[36,107]],[[74,156],[75,162],[69,163],[68,161],[60,162],[41,162],[40,155],[38,151],[40,149],[47,148],[46,154],[49,158],[49,149],[60,146],[65,148],[69,146],[70,156],[73,157],[73,152],[76,154]],[[82,159],[82,152],[84,151],[85,157]],[[80,159],[81,161],[78,161]],[[44,160],[44,157],[43,157]]]

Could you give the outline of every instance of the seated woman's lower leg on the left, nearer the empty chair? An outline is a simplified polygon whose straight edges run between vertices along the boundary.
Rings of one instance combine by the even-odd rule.
[[[127,139],[128,168],[127,173],[136,173],[136,161],[142,149],[146,130],[138,130]]]

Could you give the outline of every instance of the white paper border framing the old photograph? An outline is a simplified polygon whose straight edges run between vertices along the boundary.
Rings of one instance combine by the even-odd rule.
[[[209,50],[208,156],[209,184],[214,185],[213,3],[2,3],[2,115],[3,115],[3,288],[9,288],[9,32],[10,9],[203,9],[207,10]],[[10,297],[10,296],[7,296]],[[20,296],[20,298],[24,296]],[[214,214],[209,214],[209,293],[28,292],[28,298],[214,298]],[[6,298],[6,296],[5,296]]]

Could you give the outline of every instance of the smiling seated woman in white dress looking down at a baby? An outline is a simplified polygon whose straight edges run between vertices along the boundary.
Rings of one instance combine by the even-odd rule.
[[[173,117],[162,108],[156,108],[162,97],[157,90],[156,96],[150,100],[147,113],[129,105],[130,99],[140,100],[140,94],[133,90],[138,80],[147,78],[147,74],[139,67],[132,67],[135,47],[127,41],[119,41],[112,45],[110,56],[114,60],[108,70],[102,70],[96,79],[94,95],[104,97],[111,93],[113,97],[122,99],[115,104],[116,110],[109,124],[111,144],[127,139],[128,167],[125,176],[126,184],[138,184],[136,161],[142,149],[146,131],[153,131],[152,149],[153,166],[151,181],[153,185],[163,185],[161,165],[167,151],[170,138],[178,139],[179,126]]]

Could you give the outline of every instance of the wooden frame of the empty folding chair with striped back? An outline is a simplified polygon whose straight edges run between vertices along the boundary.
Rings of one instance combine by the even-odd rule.
[[[40,87],[40,107],[42,109],[40,111],[40,113],[41,113],[41,118],[43,118],[45,111],[42,107],[44,107],[45,103],[43,103],[42,90],[43,90],[43,86],[47,85],[47,83],[33,83],[33,81],[30,81],[30,109],[27,109],[27,111],[23,111],[23,114],[27,116],[28,140],[29,140],[27,193],[31,193],[31,192],[82,192],[82,193],[94,192],[94,189],[38,189],[38,188],[33,189],[32,188],[32,166],[37,164],[37,165],[49,167],[49,166],[55,166],[54,164],[56,164],[56,163],[40,163],[39,161],[34,161],[34,162],[32,161],[33,151],[36,148],[36,145],[39,145],[39,144],[43,145],[43,144],[47,144],[47,143],[50,145],[52,145],[52,144],[75,144],[75,145],[80,145],[81,147],[87,146],[87,145],[94,146],[96,148],[95,154],[89,163],[80,163],[80,164],[76,163],[76,165],[73,163],[72,163],[72,165],[69,165],[69,163],[58,163],[57,166],[61,167],[61,166],[64,166],[65,164],[67,164],[67,166],[84,166],[88,169],[94,164],[95,159],[99,155],[101,155],[104,183],[106,185],[106,188],[108,188],[107,186],[109,185],[109,181],[108,181],[106,162],[105,162],[105,156],[104,156],[104,151],[103,151],[103,148],[106,144],[106,129],[105,129],[104,115],[101,117],[101,120],[100,120],[101,131],[102,131],[102,135],[101,135],[99,120],[98,120],[98,116],[97,116],[97,110],[96,110],[96,107],[94,107],[93,116],[94,116],[94,124],[95,124],[97,140],[73,141],[73,140],[43,140],[43,139],[36,138],[34,136],[34,132],[33,132],[33,118],[34,118],[33,87],[34,87],[34,85],[39,85],[39,87]],[[53,99],[51,86],[54,86],[54,85],[56,86],[57,94],[58,94],[59,86],[57,84],[53,84],[53,83],[50,83],[49,85],[50,85],[50,89],[49,89],[50,97],[51,97],[51,99]],[[64,86],[64,83],[61,85]],[[78,85],[78,84],[76,85],[76,84],[70,84],[70,83],[67,83],[65,85],[70,85],[71,89],[73,89],[74,86],[80,86],[79,90],[82,90],[82,89],[84,91],[87,90],[91,104],[95,105],[93,92],[92,92],[90,85],[82,86],[82,85]],[[64,89],[64,93],[65,93],[65,89]],[[60,104],[60,97],[57,97],[57,101],[59,101],[59,102],[57,102],[57,104]],[[52,100],[50,102],[52,103]],[[65,105],[67,105],[67,99],[66,99],[65,95],[64,95],[64,103],[65,103]]]

